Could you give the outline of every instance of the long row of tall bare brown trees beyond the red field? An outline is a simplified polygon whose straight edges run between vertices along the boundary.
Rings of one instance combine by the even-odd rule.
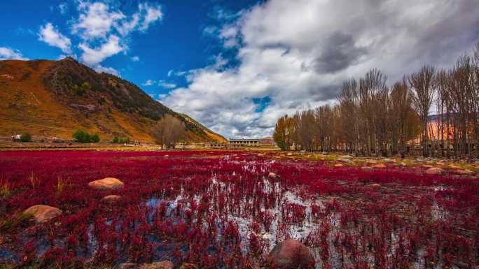
[[[377,69],[346,80],[335,106],[285,115],[273,136],[283,150],[479,157],[479,43],[449,70],[423,66],[390,87]]]

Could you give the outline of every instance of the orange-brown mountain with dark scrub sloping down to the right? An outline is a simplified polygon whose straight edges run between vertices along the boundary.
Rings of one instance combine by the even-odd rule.
[[[97,73],[71,57],[0,61],[0,136],[27,131],[36,137],[70,139],[76,129],[84,129],[104,140],[128,136],[153,142],[152,128],[165,114],[184,122],[184,140],[225,141],[133,83]]]

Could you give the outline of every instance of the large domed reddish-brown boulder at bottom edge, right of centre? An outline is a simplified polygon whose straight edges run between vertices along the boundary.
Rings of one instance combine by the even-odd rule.
[[[294,239],[284,240],[276,245],[268,255],[266,262],[272,268],[314,268],[314,258],[311,255],[310,249]]]

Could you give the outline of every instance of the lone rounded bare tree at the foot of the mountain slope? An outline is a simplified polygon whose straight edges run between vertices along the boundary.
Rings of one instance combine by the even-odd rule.
[[[167,148],[174,148],[184,133],[186,133],[185,124],[169,114],[158,120],[153,128],[153,136],[157,142]]]

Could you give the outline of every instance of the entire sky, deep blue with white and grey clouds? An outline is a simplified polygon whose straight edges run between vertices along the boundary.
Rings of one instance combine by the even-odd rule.
[[[479,41],[477,0],[2,1],[0,17],[0,59],[75,57],[236,138],[370,68],[392,84]]]

